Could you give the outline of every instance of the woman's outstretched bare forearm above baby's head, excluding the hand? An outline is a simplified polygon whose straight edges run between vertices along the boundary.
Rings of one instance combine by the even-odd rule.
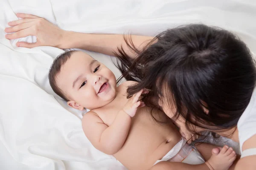
[[[89,51],[95,51],[102,54],[114,56],[117,48],[122,48],[130,57],[135,57],[134,53],[126,44],[125,38],[130,35],[122,34],[84,34],[73,31],[65,31],[63,36],[63,46],[61,48],[81,48]],[[131,40],[137,49],[142,49],[154,37],[131,35]]]

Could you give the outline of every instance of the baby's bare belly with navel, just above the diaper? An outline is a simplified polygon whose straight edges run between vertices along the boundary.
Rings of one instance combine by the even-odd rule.
[[[173,124],[154,122],[148,113],[135,117],[125,144],[114,154],[129,170],[148,170],[181,139]]]

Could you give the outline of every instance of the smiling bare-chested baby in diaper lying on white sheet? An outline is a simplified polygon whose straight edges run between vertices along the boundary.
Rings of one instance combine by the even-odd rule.
[[[181,138],[175,125],[154,121],[150,113],[160,121],[169,119],[140,101],[146,90],[127,99],[127,87],[136,82],[116,87],[113,72],[84,52],[58,56],[50,68],[49,82],[70,107],[90,109],[82,119],[85,135],[96,149],[113,155],[129,170],[154,169],[157,164],[166,164],[170,170],[227,170],[236,159],[232,148],[225,146],[218,155],[211,155],[214,146],[201,144],[198,150],[205,162],[198,150]]]

